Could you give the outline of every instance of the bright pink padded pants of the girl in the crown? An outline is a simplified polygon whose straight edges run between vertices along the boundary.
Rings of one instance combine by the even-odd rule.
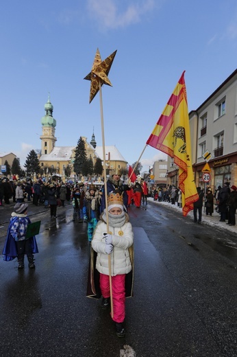
[[[100,274],[100,286],[103,297],[110,297],[110,277]],[[113,295],[113,320],[122,323],[125,319],[125,274],[112,277],[112,295]]]

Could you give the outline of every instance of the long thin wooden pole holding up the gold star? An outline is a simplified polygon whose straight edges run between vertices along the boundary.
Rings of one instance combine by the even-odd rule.
[[[102,148],[103,148],[103,182],[104,182],[104,192],[105,192],[105,214],[106,214],[106,226],[107,233],[109,233],[109,214],[108,214],[108,189],[106,183],[106,165],[105,165],[105,132],[103,126],[103,102],[102,102],[102,90],[101,90],[101,80],[99,79],[99,101],[101,108],[101,133],[102,133]],[[111,257],[108,255],[108,266],[109,266],[109,279],[110,279],[110,306],[111,306],[111,317],[114,317],[113,309],[113,295],[112,295],[112,277],[111,277]]]

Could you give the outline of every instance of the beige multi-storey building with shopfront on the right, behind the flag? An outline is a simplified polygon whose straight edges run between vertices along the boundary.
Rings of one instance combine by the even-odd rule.
[[[237,69],[189,117],[196,185],[205,185],[202,170],[207,154],[207,184],[212,189],[227,181],[237,185]]]

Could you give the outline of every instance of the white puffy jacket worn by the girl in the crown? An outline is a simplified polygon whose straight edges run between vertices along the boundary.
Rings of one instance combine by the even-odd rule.
[[[109,227],[110,234],[113,235],[114,250],[110,254],[111,275],[127,274],[132,270],[132,264],[129,257],[129,247],[134,242],[134,232],[132,224],[126,222],[122,227]],[[95,229],[91,242],[92,249],[97,252],[96,268],[99,273],[109,275],[108,254],[105,253],[105,238],[107,232],[105,222],[99,221]],[[118,233],[120,232],[120,234]],[[123,232],[123,234],[121,233]]]

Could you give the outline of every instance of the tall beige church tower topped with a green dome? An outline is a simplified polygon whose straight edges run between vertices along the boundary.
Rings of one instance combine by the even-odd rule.
[[[41,139],[41,154],[50,154],[55,146],[55,126],[56,121],[53,119],[53,106],[48,96],[48,101],[45,104],[45,116],[41,119],[42,135]]]

